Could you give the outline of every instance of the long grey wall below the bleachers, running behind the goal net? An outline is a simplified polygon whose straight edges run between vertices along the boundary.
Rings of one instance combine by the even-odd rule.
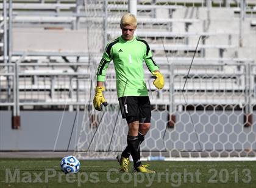
[[[202,112],[191,113],[196,126],[199,140],[208,150],[244,150],[256,149],[256,126],[243,126],[242,112]],[[254,112],[254,121],[256,116]],[[55,139],[60,127],[56,150],[66,150],[76,112],[61,111],[24,111],[21,112],[20,130],[13,130],[12,113],[0,111],[0,150],[53,150]],[[152,113],[151,131],[141,146],[144,150],[200,149],[193,124],[187,112],[176,113],[176,126],[165,132],[167,112]],[[77,113],[76,123],[69,149],[74,150],[79,135],[84,112]],[[63,118],[63,119],[62,119]],[[122,121],[124,123],[124,121]],[[112,127],[104,124],[104,133],[108,131],[105,142],[110,141]],[[122,147],[126,144],[127,127],[117,125],[116,136],[119,134]],[[99,130],[100,132],[101,130]],[[210,138],[210,139],[209,139]],[[96,140],[97,141],[97,140]],[[120,144],[120,143],[119,143]],[[115,144],[114,144],[115,145]],[[119,148],[122,149],[122,148]]]

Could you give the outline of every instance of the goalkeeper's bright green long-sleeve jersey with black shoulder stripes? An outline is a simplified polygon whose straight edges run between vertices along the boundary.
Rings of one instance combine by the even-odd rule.
[[[159,69],[152,59],[148,43],[136,36],[130,41],[119,36],[109,42],[98,66],[97,81],[105,81],[107,67],[112,60],[116,72],[118,98],[121,96],[148,96],[148,89],[144,81],[143,60],[150,72]]]

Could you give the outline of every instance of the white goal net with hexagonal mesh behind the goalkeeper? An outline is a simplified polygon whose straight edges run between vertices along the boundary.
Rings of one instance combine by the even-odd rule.
[[[137,35],[146,39],[165,76],[165,87],[157,90],[144,67],[152,119],[141,155],[147,159],[255,157],[256,65],[255,57],[244,54],[244,49],[251,49],[246,37],[253,32],[246,25],[249,18],[245,16],[241,22],[241,16],[230,8],[239,8],[240,4],[222,7],[220,1],[208,5],[205,1],[137,2]],[[121,35],[119,19],[128,5],[121,0],[85,0],[84,5],[91,41],[91,76],[87,80],[91,87],[85,92],[88,99],[75,153],[79,158],[113,159],[126,147],[127,136],[127,123],[121,118],[116,96],[113,62],[105,82],[108,106],[97,112],[92,100],[96,65],[106,42]],[[247,33],[237,32],[240,24],[248,28]]]

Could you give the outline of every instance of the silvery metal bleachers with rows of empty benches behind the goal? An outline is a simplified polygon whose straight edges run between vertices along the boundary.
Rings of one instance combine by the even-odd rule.
[[[166,75],[163,92],[158,93],[151,82],[147,83],[153,95],[154,92],[159,94],[152,103],[168,104],[170,87],[173,86],[174,101],[183,104],[182,87],[194,53],[196,70],[191,70],[186,88],[189,104],[244,102],[243,94],[248,87],[246,65],[256,62],[256,44],[252,42],[256,41],[256,2],[247,1],[242,46],[239,4],[232,0],[225,1],[226,4],[223,2],[214,0],[212,7],[207,9],[204,0],[138,1],[137,35],[148,41],[155,61]],[[90,98],[88,90],[91,90],[91,85],[81,81],[71,89],[72,78],[94,78],[96,63],[101,59],[105,45],[104,37],[110,41],[121,34],[119,17],[128,8],[126,1],[110,1],[105,22],[102,5],[88,4],[85,7],[84,1],[15,0],[12,7],[12,62],[20,62],[21,103],[59,105],[65,104],[66,100],[68,104],[84,104]],[[2,4],[0,15],[1,9]],[[2,20],[0,16],[0,36],[4,32]],[[107,25],[105,29],[104,24]],[[199,36],[202,39],[196,50]],[[93,39],[99,42],[96,44]],[[2,47],[1,37],[1,50]],[[2,61],[0,52],[0,65]],[[84,70],[74,69],[76,64]],[[172,80],[170,66],[174,69]],[[7,93],[9,77],[6,72],[1,73],[0,92]],[[108,78],[113,78],[113,75],[115,71],[110,66]],[[145,78],[150,78],[148,72]],[[106,88],[112,100],[110,96],[115,95],[115,84],[108,84]],[[76,95],[71,96],[71,91]],[[0,103],[6,100],[0,97]],[[115,100],[113,98],[110,102]]]

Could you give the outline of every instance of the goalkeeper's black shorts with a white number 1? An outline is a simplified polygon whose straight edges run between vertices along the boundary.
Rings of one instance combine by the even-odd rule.
[[[151,104],[149,96],[123,96],[118,98],[122,117],[127,123],[140,121],[140,123],[151,122]]]

